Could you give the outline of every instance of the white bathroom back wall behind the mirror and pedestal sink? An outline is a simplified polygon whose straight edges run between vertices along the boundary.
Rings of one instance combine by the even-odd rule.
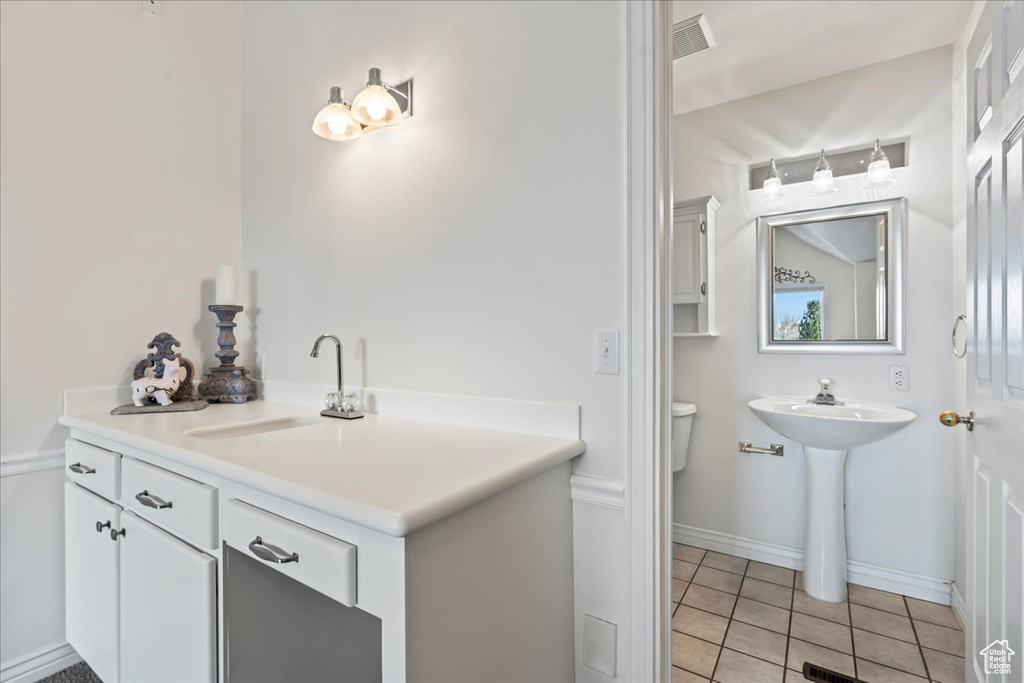
[[[676,477],[675,520],[788,548],[803,546],[804,475],[799,445],[762,424],[746,401],[806,394],[831,377],[840,398],[914,411],[909,427],[848,459],[851,560],[951,580],[953,438],[935,416],[953,396],[949,47],[909,55],[675,118],[676,198],[715,195],[718,213],[717,339],[675,344],[675,394],[697,405],[690,459]],[[752,164],[909,137],[909,166],[886,196],[909,201],[906,348],[901,356],[759,354],[755,218],[821,206],[809,183],[786,185],[766,211],[748,188]],[[830,204],[871,199],[863,176],[838,178]],[[958,312],[958,311],[956,311]],[[888,390],[891,364],[909,368],[907,393]],[[725,371],[728,372],[725,372]],[[736,441],[782,441],[784,458],[740,455]]]

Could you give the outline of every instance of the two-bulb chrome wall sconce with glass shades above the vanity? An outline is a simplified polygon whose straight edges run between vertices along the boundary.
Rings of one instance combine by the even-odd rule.
[[[379,128],[394,126],[413,116],[412,79],[392,86],[371,69],[367,87],[347,101],[341,88],[331,88],[327,106],[313,119],[313,132],[326,140],[354,140]]]

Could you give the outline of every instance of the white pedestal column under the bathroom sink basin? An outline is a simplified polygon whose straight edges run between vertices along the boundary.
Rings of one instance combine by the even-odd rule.
[[[807,514],[804,591],[818,600],[846,600],[846,451],[804,446]]]

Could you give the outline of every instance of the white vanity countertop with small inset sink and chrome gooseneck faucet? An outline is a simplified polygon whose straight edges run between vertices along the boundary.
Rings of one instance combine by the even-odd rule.
[[[313,424],[232,438],[186,432],[265,420]],[[583,454],[578,439],[267,403],[195,413],[66,415],[60,424],[394,537]],[[566,495],[568,492],[566,490]]]

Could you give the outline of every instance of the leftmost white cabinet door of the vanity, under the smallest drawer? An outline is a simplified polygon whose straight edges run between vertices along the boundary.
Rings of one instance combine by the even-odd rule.
[[[118,681],[118,551],[121,508],[65,483],[68,642],[103,683]]]

